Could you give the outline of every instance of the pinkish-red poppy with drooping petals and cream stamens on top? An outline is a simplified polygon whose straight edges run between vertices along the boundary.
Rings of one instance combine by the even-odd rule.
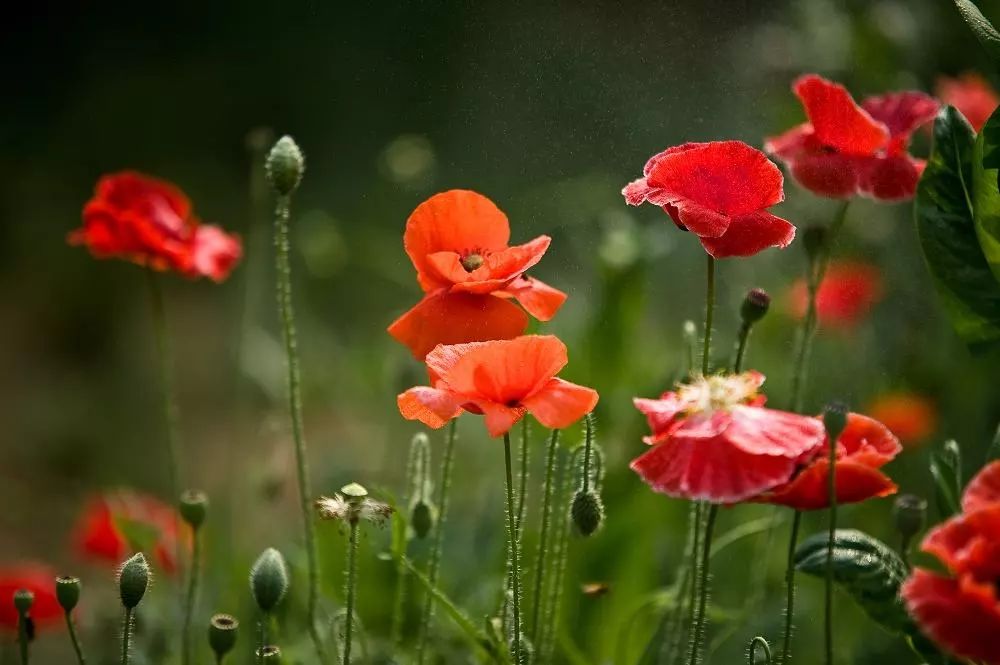
[[[823,445],[809,416],[764,408],[759,372],[696,379],[660,399],[636,399],[650,450],[632,470],[655,491],[737,503],[787,482],[796,464]]]

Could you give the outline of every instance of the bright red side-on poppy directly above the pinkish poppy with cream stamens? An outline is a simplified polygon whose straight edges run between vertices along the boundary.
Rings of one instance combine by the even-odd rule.
[[[685,143],[653,155],[622,190],[629,205],[661,206],[721,259],[787,247],[795,227],[767,208],[785,198],[781,170],[741,141]]]

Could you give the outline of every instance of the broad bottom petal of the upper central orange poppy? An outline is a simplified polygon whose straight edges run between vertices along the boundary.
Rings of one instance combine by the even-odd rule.
[[[528,327],[517,305],[492,295],[430,293],[389,326],[389,334],[422,359],[438,344],[510,339]]]

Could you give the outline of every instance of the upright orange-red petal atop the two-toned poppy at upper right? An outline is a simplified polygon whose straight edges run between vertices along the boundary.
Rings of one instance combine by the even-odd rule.
[[[824,145],[849,155],[872,155],[889,142],[888,128],[858,106],[844,86],[807,74],[793,89]]]

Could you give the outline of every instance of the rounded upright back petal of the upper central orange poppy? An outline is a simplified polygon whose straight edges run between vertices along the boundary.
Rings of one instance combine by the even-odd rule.
[[[453,189],[427,199],[406,220],[403,246],[424,291],[448,286],[427,263],[427,255],[496,252],[507,247],[507,216],[482,194]]]

